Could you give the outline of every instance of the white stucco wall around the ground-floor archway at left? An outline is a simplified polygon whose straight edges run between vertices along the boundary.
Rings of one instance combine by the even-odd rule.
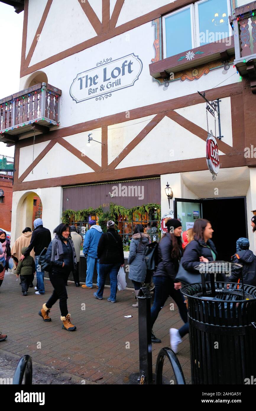
[[[12,229],[13,242],[21,236],[25,226],[32,225],[33,196],[35,194],[42,201],[42,220],[44,227],[51,231],[60,224],[62,217],[62,187],[48,187],[29,191],[14,191],[12,195]]]

